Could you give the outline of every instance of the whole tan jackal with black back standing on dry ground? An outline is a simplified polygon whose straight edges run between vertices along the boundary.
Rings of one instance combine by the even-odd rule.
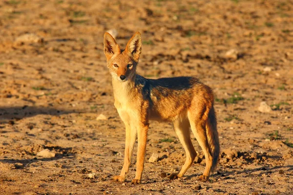
[[[148,121],[157,120],[173,122],[174,131],[186,151],[187,157],[183,167],[170,178],[182,177],[196,156],[190,139],[191,127],[206,157],[206,169],[199,179],[207,181],[220,154],[212,91],[197,78],[146,79],[137,75],[136,67],[142,52],[141,47],[141,35],[138,32],[128,41],[124,51],[120,50],[110,34],[105,33],[104,51],[112,75],[114,105],[126,126],[124,165],[120,175],[114,176],[113,179],[125,181],[137,137],[136,175],[132,184],[141,183]]]

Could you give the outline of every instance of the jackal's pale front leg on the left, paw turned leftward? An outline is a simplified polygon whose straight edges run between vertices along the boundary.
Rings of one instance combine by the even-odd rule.
[[[136,140],[136,130],[125,123],[126,127],[126,139],[125,139],[125,153],[124,153],[124,164],[119,176],[114,176],[115,181],[124,182],[126,174],[128,173],[129,166],[131,163],[131,156],[133,151],[133,146]]]

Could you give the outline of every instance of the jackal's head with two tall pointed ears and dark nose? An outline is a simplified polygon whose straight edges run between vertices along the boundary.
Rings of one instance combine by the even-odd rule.
[[[136,32],[123,51],[120,50],[115,39],[109,33],[105,33],[104,52],[113,79],[121,82],[132,79],[135,76],[138,59],[142,53],[141,34]]]

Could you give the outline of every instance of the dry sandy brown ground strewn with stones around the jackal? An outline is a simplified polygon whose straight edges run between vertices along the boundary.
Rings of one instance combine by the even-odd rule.
[[[213,89],[222,152],[209,182],[197,181],[205,159],[194,137],[191,168],[166,177],[185,153],[171,123],[157,122],[143,184],[130,184],[136,148],[126,182],[111,181],[125,130],[107,30],[122,48],[141,32],[140,75],[194,76]],[[292,42],[291,0],[1,0],[0,194],[293,194]]]

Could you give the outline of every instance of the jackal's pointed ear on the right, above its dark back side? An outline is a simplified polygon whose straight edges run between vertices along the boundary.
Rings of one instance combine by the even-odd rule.
[[[126,52],[131,54],[133,58],[138,61],[142,53],[142,38],[139,32],[136,32],[126,45]]]

